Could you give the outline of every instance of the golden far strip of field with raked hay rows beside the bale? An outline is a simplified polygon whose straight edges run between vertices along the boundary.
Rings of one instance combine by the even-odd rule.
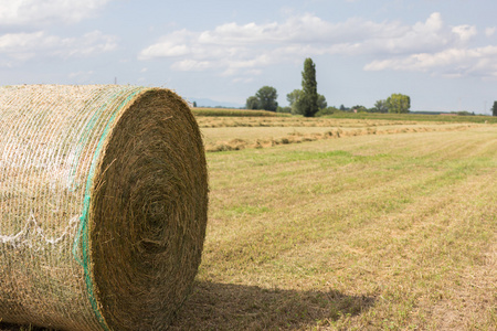
[[[207,151],[267,148],[364,135],[466,130],[479,124],[413,122],[330,118],[198,118]]]

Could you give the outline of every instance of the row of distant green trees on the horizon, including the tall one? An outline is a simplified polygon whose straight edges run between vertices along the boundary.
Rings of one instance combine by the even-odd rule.
[[[289,107],[279,107],[277,103],[278,94],[272,86],[261,87],[254,96],[246,99],[247,109],[263,109],[269,111],[290,113],[293,115],[304,115],[305,117],[330,115],[336,111],[370,111],[370,113],[409,113],[411,98],[403,94],[392,94],[387,99],[378,100],[373,108],[366,108],[357,105],[346,108],[328,107],[325,96],[317,93],[316,65],[311,58],[304,61],[302,72],[302,89],[294,89],[286,95]],[[497,106],[496,106],[497,107]]]

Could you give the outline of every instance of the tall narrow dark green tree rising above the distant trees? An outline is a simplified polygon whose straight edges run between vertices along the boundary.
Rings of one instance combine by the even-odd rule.
[[[310,57],[304,61],[304,71],[302,72],[302,90],[304,95],[298,99],[298,108],[305,117],[314,117],[319,110],[316,65]]]

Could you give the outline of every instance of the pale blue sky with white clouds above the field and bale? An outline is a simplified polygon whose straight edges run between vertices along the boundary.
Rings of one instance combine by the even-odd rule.
[[[329,106],[490,115],[495,0],[0,0],[0,85],[130,84],[278,103],[316,64]],[[198,103],[199,104],[199,103]],[[200,104],[199,104],[200,106]]]

